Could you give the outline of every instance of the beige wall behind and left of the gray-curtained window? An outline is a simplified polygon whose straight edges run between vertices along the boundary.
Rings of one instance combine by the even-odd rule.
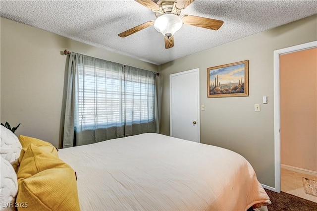
[[[158,66],[112,53],[1,17],[1,122],[16,135],[36,137],[58,147],[63,122],[67,49],[146,70]],[[67,80],[67,79],[66,79]]]

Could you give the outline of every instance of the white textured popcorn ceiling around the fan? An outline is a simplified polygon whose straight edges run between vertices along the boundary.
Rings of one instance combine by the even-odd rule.
[[[217,31],[185,25],[165,49],[150,26],[126,38],[119,33],[154,20],[134,0],[1,0],[1,16],[73,40],[154,64],[201,52],[317,13],[317,0],[195,0],[183,14],[223,20]],[[72,51],[71,49],[68,49]]]

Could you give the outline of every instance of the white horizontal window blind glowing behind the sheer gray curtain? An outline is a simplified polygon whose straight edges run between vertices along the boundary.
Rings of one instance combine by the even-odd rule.
[[[77,81],[75,121],[81,130],[153,121],[153,75],[82,64]]]

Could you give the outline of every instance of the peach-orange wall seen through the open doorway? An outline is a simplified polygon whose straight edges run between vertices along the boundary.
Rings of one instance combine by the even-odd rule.
[[[317,171],[317,48],[280,56],[281,163]]]

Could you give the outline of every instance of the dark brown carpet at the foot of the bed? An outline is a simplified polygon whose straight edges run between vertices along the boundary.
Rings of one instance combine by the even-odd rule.
[[[317,211],[317,203],[302,199],[285,192],[276,193],[264,189],[272,204],[267,206],[268,211]]]

